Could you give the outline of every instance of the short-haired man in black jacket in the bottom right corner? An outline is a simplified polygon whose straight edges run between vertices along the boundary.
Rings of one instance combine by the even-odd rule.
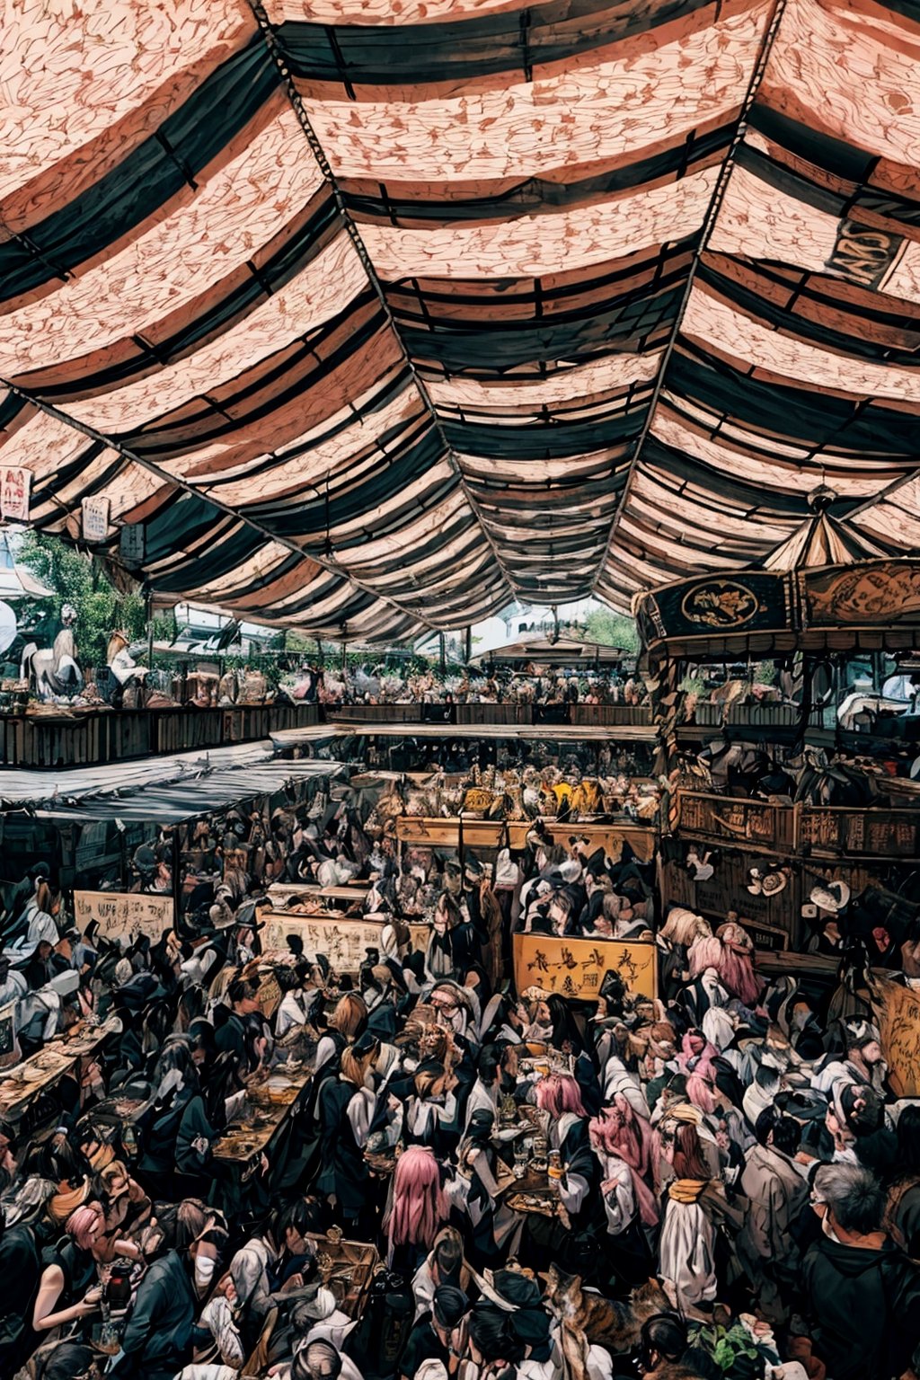
[[[811,1206],[822,1239],[803,1263],[815,1355],[833,1380],[890,1380],[920,1363],[920,1268],[881,1230],[884,1194],[866,1169],[822,1165]]]

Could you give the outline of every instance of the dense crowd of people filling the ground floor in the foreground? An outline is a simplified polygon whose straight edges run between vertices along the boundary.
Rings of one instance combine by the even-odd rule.
[[[0,1081],[0,1374],[910,1380],[920,1103],[858,969],[768,981],[737,918],[661,915],[654,867],[577,829],[492,862],[400,856],[345,803],[288,825],[312,879],[368,883],[354,972],[294,926],[263,948],[233,847],[156,940],[80,934],[47,868],[8,903],[22,1057],[101,1038],[41,1115]],[[658,992],[514,991],[514,929],[654,943]],[[237,1172],[215,1145],[286,1072]],[[379,1254],[360,1297],[342,1241]]]

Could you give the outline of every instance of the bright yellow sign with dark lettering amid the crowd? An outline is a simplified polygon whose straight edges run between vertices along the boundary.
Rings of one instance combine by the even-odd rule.
[[[514,987],[590,1002],[600,995],[604,974],[619,973],[632,992],[658,995],[658,952],[633,940],[570,940],[553,934],[514,936]]]

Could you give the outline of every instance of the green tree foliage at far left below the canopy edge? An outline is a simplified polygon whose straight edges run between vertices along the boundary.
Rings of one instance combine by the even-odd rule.
[[[18,544],[17,560],[54,589],[50,599],[25,603],[21,622],[29,625],[48,615],[57,618],[62,604],[73,604],[77,610],[77,651],[84,665],[105,665],[109,638],[116,629],[123,631],[128,640],[145,635],[142,596],[120,593],[92,556],[74,551],[58,537],[28,531]]]

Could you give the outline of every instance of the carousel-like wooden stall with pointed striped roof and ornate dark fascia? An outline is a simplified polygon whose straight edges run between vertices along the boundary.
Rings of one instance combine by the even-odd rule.
[[[826,920],[815,889],[898,891],[920,851],[920,562],[888,560],[832,498],[759,566],[636,599],[669,752],[665,905],[792,944]]]

